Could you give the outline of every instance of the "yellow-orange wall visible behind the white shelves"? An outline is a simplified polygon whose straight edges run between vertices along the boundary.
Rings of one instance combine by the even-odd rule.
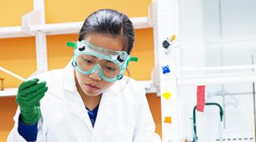
[[[60,4],[61,3],[61,4]],[[129,17],[147,16],[147,7],[151,0],[120,1],[102,0],[89,1],[79,0],[76,3],[61,0],[45,0],[45,15],[47,23],[64,23],[83,21],[91,12],[100,8],[117,9],[125,12]],[[0,27],[21,25],[21,15],[33,9],[33,1],[1,0]],[[23,6],[23,7],[20,7]],[[25,7],[26,6],[26,7]],[[8,13],[8,15],[6,14]],[[3,20],[4,19],[4,20]],[[74,42],[77,35],[47,36],[47,56],[49,69],[63,68],[72,55],[71,47],[66,47],[66,42]],[[130,63],[129,71],[134,79],[146,80],[151,77],[154,66],[153,31],[152,28],[136,30],[133,56],[139,57],[138,63]],[[0,66],[14,73],[28,77],[36,70],[35,38],[0,39]],[[20,80],[0,71],[0,77],[4,77],[5,87],[18,87]],[[160,125],[160,98],[155,94],[147,94],[150,109],[156,123],[156,132],[161,135]],[[6,141],[9,130],[12,129],[12,117],[17,109],[15,97],[0,98],[0,141]]]

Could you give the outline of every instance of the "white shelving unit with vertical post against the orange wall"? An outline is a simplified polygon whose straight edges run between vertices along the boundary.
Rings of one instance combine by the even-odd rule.
[[[131,17],[135,29],[152,28],[149,17]],[[34,10],[22,17],[22,25],[0,28],[0,39],[36,36],[36,65],[33,74],[47,71],[47,35],[79,33],[83,22],[46,24],[44,17],[44,0],[34,0]],[[7,70],[5,70],[7,71]],[[10,71],[9,71],[10,72]],[[12,75],[12,74],[11,74]],[[147,92],[156,92],[151,81],[142,81]],[[13,96],[18,88],[0,91],[1,96]]]

